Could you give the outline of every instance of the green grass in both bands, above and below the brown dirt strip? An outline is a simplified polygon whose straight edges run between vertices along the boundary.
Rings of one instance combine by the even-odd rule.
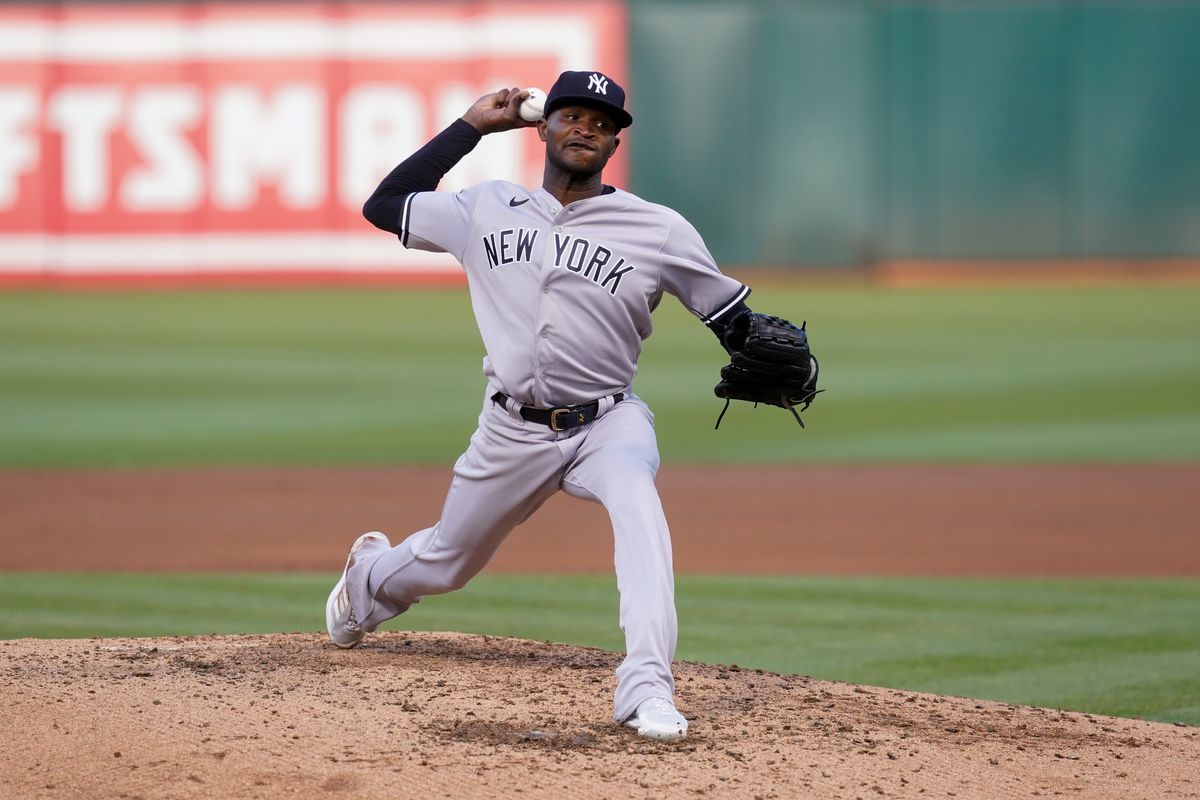
[[[665,462],[1200,459],[1200,287],[762,288],[828,390],[738,404],[672,300],[637,391]],[[6,469],[449,465],[482,348],[440,290],[0,293]],[[0,517],[2,519],[2,517]],[[4,557],[0,554],[0,570]],[[313,631],[330,576],[0,572],[0,637]],[[679,578],[679,657],[1200,723],[1200,581]],[[482,576],[397,620],[620,648],[611,578]]]

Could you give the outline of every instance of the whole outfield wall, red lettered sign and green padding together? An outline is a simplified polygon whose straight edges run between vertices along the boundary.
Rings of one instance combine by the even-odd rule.
[[[1200,259],[1200,0],[0,5],[0,283],[456,278],[359,207],[475,97],[601,66],[606,179],[722,264]],[[490,137],[445,188],[540,182]]]

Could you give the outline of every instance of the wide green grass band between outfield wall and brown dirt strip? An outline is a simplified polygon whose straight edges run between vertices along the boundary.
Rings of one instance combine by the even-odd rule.
[[[1200,459],[1198,285],[754,297],[809,320],[828,393],[803,433],[749,404],[713,432],[725,354],[668,300],[636,381],[665,461]],[[0,468],[445,467],[481,356],[461,289],[0,293]]]

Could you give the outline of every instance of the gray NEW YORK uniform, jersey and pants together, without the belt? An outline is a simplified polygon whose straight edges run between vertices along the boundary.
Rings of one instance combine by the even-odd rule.
[[[466,269],[490,386],[437,524],[347,567],[361,630],[464,585],[516,525],[564,491],[601,503],[612,521],[626,650],[614,718],[673,697],[671,535],[654,485],[654,416],[630,384],[664,291],[709,320],[750,290],[720,273],[683,217],[622,191],[566,207],[545,190],[505,181],[419,192],[404,201],[398,234]],[[493,391],[510,399],[492,402]],[[599,401],[595,419],[564,431],[520,408],[590,401]]]

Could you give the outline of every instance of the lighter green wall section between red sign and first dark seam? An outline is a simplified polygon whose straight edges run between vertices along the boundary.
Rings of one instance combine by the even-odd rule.
[[[730,263],[859,260],[874,235],[868,4],[638,2],[635,190]],[[642,125],[642,119],[646,125]]]

